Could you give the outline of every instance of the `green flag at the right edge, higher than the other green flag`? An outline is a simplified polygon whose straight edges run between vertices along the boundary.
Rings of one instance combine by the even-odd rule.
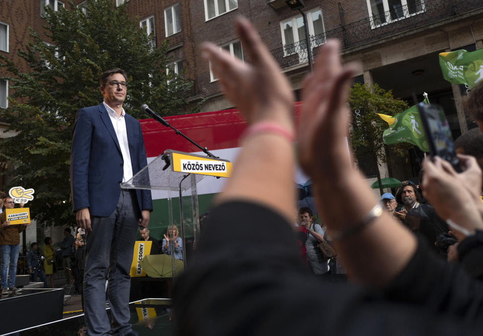
[[[442,52],[439,65],[444,79],[452,84],[467,84],[472,89],[483,81],[483,49]]]

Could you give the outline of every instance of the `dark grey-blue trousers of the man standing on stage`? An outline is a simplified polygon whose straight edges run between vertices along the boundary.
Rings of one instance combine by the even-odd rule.
[[[140,211],[134,192],[123,191],[109,217],[91,216],[92,232],[87,236],[84,270],[84,312],[90,336],[107,335],[111,324],[105,306],[107,295],[112,315],[112,334],[125,335],[129,323],[129,271]]]

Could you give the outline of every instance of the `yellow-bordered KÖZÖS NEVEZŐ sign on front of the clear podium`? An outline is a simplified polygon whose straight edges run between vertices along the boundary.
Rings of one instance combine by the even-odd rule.
[[[173,153],[173,170],[182,173],[229,177],[232,163],[209,157]]]

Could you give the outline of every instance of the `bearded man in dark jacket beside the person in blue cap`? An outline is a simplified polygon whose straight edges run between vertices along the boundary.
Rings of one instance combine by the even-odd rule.
[[[438,250],[434,243],[438,235],[449,231],[448,225],[431,205],[419,202],[421,196],[416,185],[411,181],[403,181],[397,189],[396,199],[404,205],[399,211],[405,214],[403,223],[416,235],[423,237],[436,251],[446,253]]]

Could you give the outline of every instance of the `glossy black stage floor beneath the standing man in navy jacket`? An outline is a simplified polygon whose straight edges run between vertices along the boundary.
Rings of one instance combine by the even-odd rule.
[[[172,335],[170,321],[171,299],[143,299],[129,304],[131,311],[130,323],[132,329],[142,335]],[[42,302],[36,302],[36,309],[43,309]],[[109,308],[106,309],[109,314]],[[10,314],[9,314],[10,315]],[[11,316],[11,315],[10,315]],[[60,317],[61,318],[61,317]],[[33,335],[86,335],[84,314],[59,319],[50,323],[26,328],[19,324],[15,332],[0,333],[3,335],[33,336]]]

